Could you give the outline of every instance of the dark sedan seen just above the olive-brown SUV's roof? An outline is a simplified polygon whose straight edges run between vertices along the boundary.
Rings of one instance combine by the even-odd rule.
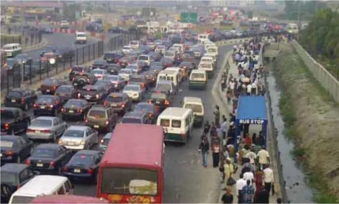
[[[80,90],[78,98],[96,104],[102,103],[107,95],[108,92],[102,86],[86,85]]]

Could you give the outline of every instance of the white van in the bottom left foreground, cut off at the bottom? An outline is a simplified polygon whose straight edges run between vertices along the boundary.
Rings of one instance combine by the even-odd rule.
[[[72,195],[73,185],[65,176],[36,175],[15,191],[9,204],[29,204],[39,195]]]

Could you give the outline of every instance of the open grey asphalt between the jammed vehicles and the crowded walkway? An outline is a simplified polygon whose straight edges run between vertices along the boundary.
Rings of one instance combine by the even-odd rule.
[[[232,46],[219,48],[216,73],[224,61],[226,53],[231,49]],[[212,89],[215,78],[216,76],[208,81],[205,91],[189,90],[188,81],[183,82],[179,93],[174,96],[173,106],[179,106],[185,96],[200,97],[204,104],[204,120],[211,122],[214,120],[213,110],[215,103],[208,92]],[[145,100],[147,100],[147,97]],[[31,119],[34,119],[32,109],[28,113]],[[68,121],[68,125],[85,125],[85,123],[83,121]],[[203,168],[201,154],[197,151],[202,132],[201,128],[196,128],[186,145],[166,144],[164,203],[218,203],[220,193],[219,170],[218,168],[212,168],[211,155],[208,156],[208,167]],[[101,134],[100,136],[103,135]],[[93,147],[93,149],[98,149],[98,146]],[[96,185],[74,183],[74,186],[74,194],[76,195],[96,196]]]

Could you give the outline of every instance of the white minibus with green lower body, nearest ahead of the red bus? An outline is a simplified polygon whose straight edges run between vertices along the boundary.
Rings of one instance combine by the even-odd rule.
[[[164,128],[165,141],[187,143],[193,134],[193,110],[182,107],[168,107],[157,119],[157,125]]]

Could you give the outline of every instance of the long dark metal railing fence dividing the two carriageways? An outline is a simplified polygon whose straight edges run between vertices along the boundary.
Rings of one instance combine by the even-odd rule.
[[[37,81],[68,70],[74,65],[81,65],[100,58],[105,51],[113,51],[120,49],[128,44],[129,41],[139,39],[141,33],[131,31],[128,34],[114,35],[105,41],[100,40],[96,43],[85,45],[75,50],[68,51],[68,58],[59,58],[57,56],[56,63],[51,65],[47,61],[34,61],[34,63],[17,65],[7,70],[5,76],[1,75],[1,90],[9,90],[21,85],[30,85]],[[64,60],[63,60],[64,59]]]

